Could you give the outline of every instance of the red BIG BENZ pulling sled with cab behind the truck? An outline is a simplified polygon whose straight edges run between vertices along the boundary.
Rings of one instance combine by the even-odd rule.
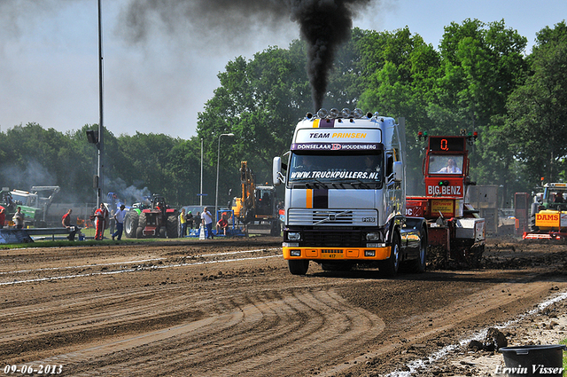
[[[443,251],[444,262],[454,260],[477,265],[485,249],[485,219],[478,216],[466,200],[469,177],[469,151],[478,135],[432,136],[421,132],[428,146],[423,159],[425,196],[408,197],[406,216],[424,217],[428,224],[429,245]],[[428,257],[428,259],[434,259]]]

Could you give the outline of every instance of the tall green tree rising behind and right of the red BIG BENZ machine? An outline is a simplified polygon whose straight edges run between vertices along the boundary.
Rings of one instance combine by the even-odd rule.
[[[442,111],[434,118],[440,133],[459,130],[479,132],[471,154],[473,180],[503,186],[517,177],[509,144],[501,137],[499,120],[506,114],[506,100],[524,82],[527,40],[504,20],[485,24],[479,20],[451,23],[439,46],[442,56],[436,103]]]

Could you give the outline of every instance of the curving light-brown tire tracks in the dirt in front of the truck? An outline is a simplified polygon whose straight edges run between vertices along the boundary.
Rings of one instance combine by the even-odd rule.
[[[259,292],[232,305],[236,310],[33,364],[63,364],[63,375],[74,376],[298,375],[321,365],[322,355],[334,363],[384,330],[381,318],[332,288]]]

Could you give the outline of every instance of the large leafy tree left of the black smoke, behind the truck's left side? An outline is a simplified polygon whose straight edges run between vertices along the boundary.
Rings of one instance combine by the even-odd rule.
[[[216,169],[220,135],[235,134],[221,143],[219,192],[240,182],[239,161],[253,161],[258,181],[269,180],[273,157],[289,147],[295,121],[309,109],[304,67],[305,46],[295,41],[289,50],[270,47],[251,60],[238,57],[218,75],[221,86],[198,114],[198,137],[204,139],[209,169]]]

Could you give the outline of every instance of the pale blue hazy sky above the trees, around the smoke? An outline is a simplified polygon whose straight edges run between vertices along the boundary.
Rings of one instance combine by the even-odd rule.
[[[115,136],[196,136],[198,113],[229,60],[252,59],[269,46],[287,48],[299,38],[289,17],[268,20],[260,12],[227,24],[237,12],[204,11],[183,20],[175,7],[147,17],[140,36],[126,15],[129,5],[144,1],[101,0],[103,124]],[[162,4],[175,1],[181,0]],[[162,21],[164,15],[175,22]],[[438,47],[451,22],[503,19],[528,39],[529,53],[541,28],[566,17],[565,0],[372,0],[353,26],[407,26]],[[97,0],[0,0],[0,131],[28,122],[62,132],[99,122]]]

